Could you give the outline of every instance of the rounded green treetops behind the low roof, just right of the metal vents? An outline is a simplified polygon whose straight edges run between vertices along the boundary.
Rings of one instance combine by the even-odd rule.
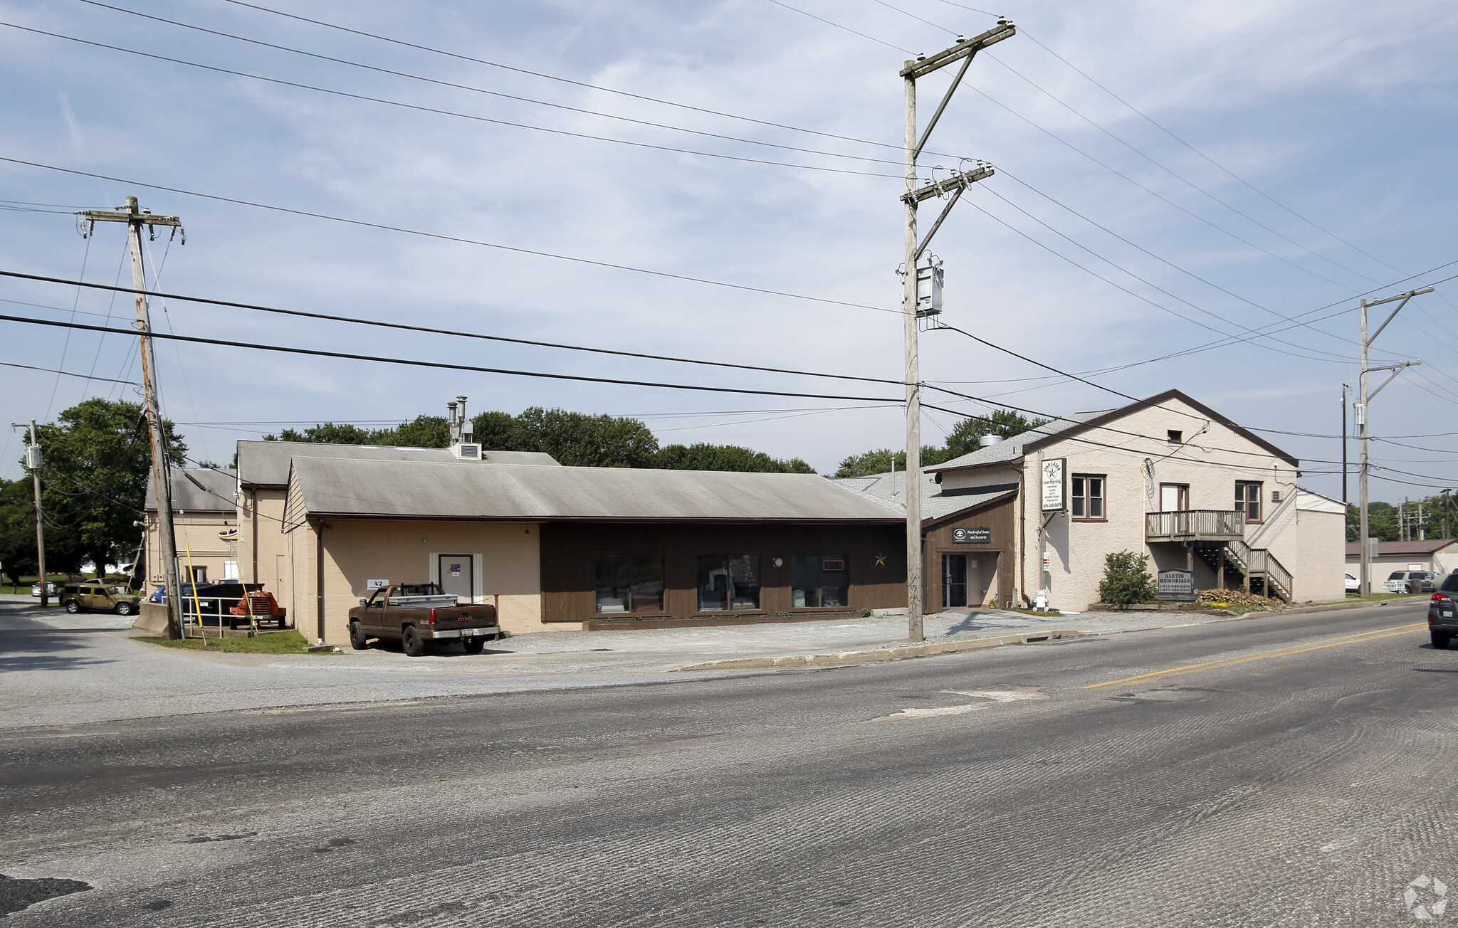
[[[658,439],[639,420],[528,406],[512,425],[512,449],[547,452],[569,468],[652,468]]]

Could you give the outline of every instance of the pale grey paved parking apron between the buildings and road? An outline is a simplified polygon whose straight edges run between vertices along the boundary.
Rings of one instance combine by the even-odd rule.
[[[13,602],[20,600],[20,602]],[[1190,625],[1209,616],[1088,613],[1040,619],[952,610],[924,621],[929,642],[1075,629],[1107,634]],[[343,654],[208,654],[133,641],[131,618],[41,610],[0,602],[0,728],[120,718],[273,709],[663,682],[671,670],[716,660],[868,651],[905,642],[905,616],[614,632],[541,632],[484,654],[405,657],[376,645]],[[690,670],[671,679],[742,670]]]

